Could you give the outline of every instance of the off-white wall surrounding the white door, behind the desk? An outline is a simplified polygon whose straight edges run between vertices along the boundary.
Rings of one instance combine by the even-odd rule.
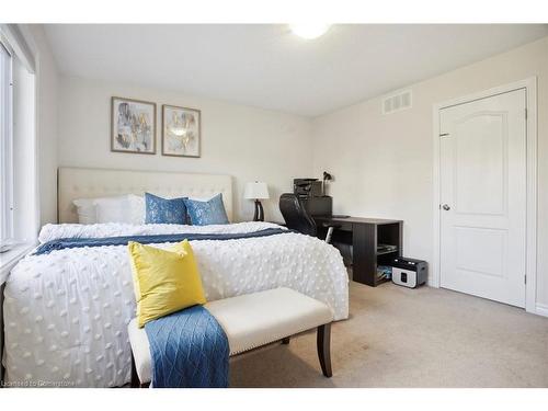
[[[548,304],[548,37],[411,85],[413,109],[381,114],[380,98],[313,121],[313,174],[334,174],[335,213],[404,220],[404,254],[433,255],[435,103],[538,78],[537,302]]]

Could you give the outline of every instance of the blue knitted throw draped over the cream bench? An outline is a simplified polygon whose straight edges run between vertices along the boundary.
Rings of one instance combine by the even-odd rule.
[[[228,339],[215,317],[194,306],[145,324],[155,388],[228,387]]]

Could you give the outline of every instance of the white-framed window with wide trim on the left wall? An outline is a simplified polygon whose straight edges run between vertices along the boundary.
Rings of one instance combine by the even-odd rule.
[[[19,27],[0,24],[0,277],[16,255],[35,243],[37,235],[32,57]]]

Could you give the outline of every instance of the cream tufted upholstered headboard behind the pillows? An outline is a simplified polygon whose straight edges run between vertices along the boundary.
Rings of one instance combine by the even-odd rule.
[[[78,222],[72,204],[77,198],[107,197],[145,192],[165,198],[190,196],[209,198],[222,193],[228,219],[232,220],[232,178],[230,175],[178,172],[59,168],[57,217],[59,222]]]

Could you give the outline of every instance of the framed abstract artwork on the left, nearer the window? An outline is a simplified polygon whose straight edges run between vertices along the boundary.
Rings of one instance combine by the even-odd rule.
[[[156,155],[156,103],[112,98],[111,151]]]

